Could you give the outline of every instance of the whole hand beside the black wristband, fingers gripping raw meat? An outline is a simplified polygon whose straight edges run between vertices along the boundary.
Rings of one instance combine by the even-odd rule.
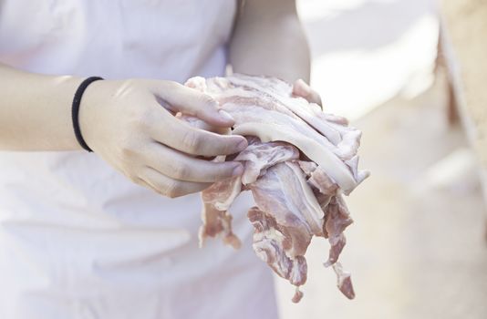
[[[79,125],[88,146],[103,160],[130,180],[171,198],[242,174],[238,162],[196,157],[239,152],[246,148],[246,139],[193,128],[174,117],[176,112],[213,127],[234,124],[216,101],[195,89],[132,79],[91,84],[81,101]]]

